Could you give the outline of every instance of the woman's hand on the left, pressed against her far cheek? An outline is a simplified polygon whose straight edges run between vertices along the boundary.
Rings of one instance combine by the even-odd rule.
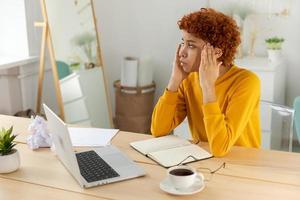
[[[173,61],[171,78],[167,89],[171,92],[176,92],[180,83],[187,77],[187,73],[182,69],[179,61],[179,51],[181,45],[177,46],[176,55]]]

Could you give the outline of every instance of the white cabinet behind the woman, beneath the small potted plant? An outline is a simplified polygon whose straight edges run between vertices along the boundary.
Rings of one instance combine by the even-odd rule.
[[[285,105],[286,64],[284,60],[270,62],[267,57],[245,57],[236,59],[236,65],[254,72],[261,83],[261,100]],[[278,143],[278,136],[271,134],[272,109],[269,104],[260,104],[260,122],[262,130],[262,148],[280,149],[272,146]],[[276,141],[277,142],[276,142]]]

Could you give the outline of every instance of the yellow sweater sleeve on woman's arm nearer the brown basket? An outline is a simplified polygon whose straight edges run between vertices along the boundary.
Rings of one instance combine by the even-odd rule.
[[[185,117],[186,104],[182,84],[177,92],[165,89],[152,114],[152,135],[158,137],[169,134]]]

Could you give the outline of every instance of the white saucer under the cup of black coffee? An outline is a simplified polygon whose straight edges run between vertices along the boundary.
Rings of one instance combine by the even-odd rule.
[[[199,175],[197,175],[196,180],[193,183],[193,185],[191,185],[188,188],[176,189],[173,186],[173,184],[171,183],[171,181],[169,180],[169,178],[165,178],[164,180],[162,180],[160,182],[159,187],[160,187],[160,189],[162,189],[163,191],[165,191],[169,194],[191,195],[191,194],[201,192],[204,189],[205,185],[204,185],[202,178]]]

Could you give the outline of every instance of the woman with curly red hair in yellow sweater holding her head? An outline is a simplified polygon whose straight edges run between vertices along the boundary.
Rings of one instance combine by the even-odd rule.
[[[202,8],[178,21],[178,46],[169,84],[155,106],[151,132],[167,135],[188,118],[192,137],[214,156],[233,145],[258,148],[260,81],[233,65],[240,44],[234,20]]]

